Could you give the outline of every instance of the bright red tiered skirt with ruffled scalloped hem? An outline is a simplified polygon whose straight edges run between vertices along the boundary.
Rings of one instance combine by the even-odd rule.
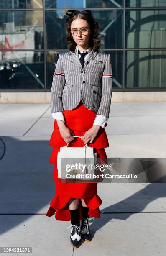
[[[77,108],[64,110],[63,113],[66,126],[77,136],[83,136],[87,130],[92,128],[96,118],[96,113],[86,108],[82,102],[79,102]],[[88,145],[94,148],[97,158],[107,159],[104,148],[109,147],[109,143],[104,128],[100,128],[94,141],[88,143]],[[85,204],[89,207],[88,215],[90,217],[100,218],[99,206],[102,204],[102,200],[97,195],[97,183],[62,183],[61,179],[58,178],[57,152],[60,151],[60,147],[66,146],[66,142],[60,134],[56,120],[54,121],[54,131],[51,135],[49,146],[53,147],[49,163],[54,164],[56,195],[51,200],[46,216],[51,217],[55,213],[56,220],[71,220],[68,202],[71,198],[79,198],[78,209],[80,220],[82,220],[81,199],[84,199]],[[85,144],[81,138],[74,137],[74,140],[69,143],[69,146],[82,147]]]

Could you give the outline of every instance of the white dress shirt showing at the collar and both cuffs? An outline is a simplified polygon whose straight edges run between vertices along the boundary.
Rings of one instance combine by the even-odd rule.
[[[76,52],[77,52],[77,54],[78,54],[78,50],[80,51],[80,53],[83,53],[83,52],[86,52],[86,51],[87,51],[88,54],[89,54],[89,52],[92,51],[92,48],[89,47],[86,51],[83,51],[83,50],[79,49],[79,48],[76,46]],[[88,54],[84,56],[84,60],[86,60],[86,57],[88,56]],[[78,56],[79,56],[79,59],[80,59],[81,55],[78,54]],[[52,116],[54,119],[64,121],[64,114],[63,114],[62,111],[58,111],[58,112],[52,113],[51,116]],[[96,116],[96,118],[95,118],[93,124],[94,124],[94,125],[99,125],[99,126],[102,126],[102,128],[105,128],[106,120],[107,120],[107,118],[106,118],[104,115],[99,115],[99,114],[97,114],[97,116]]]

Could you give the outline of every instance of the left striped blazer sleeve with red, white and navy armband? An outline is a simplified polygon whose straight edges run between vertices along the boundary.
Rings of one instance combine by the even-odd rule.
[[[56,63],[56,68],[53,75],[52,87],[51,87],[51,113],[64,110],[62,105],[62,92],[63,92],[64,84],[65,84],[65,74],[64,74],[61,54],[59,54],[59,58]]]

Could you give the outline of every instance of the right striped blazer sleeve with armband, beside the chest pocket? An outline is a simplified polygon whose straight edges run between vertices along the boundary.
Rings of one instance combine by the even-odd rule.
[[[105,62],[105,68],[102,74],[102,97],[99,109],[97,111],[97,114],[104,115],[107,120],[109,118],[112,97],[112,79],[111,57],[110,54],[108,54],[107,60]]]

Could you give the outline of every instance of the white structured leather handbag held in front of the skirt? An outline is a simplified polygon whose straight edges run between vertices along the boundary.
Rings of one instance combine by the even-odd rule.
[[[81,136],[76,135],[74,135],[73,137],[82,138]],[[83,147],[68,147],[68,145],[69,143],[67,143],[66,146],[61,147],[60,151],[57,154],[58,178],[81,180],[94,179],[93,174],[95,174],[95,165],[97,159],[96,153],[94,153],[94,148],[87,144]],[[72,167],[71,164],[73,164],[73,169],[68,168],[67,170],[67,164],[68,166],[70,165],[70,167]],[[78,164],[80,164],[79,167]],[[88,166],[89,164],[90,168]],[[77,168],[75,168],[75,166]],[[87,178],[86,174],[92,175],[88,175]]]

